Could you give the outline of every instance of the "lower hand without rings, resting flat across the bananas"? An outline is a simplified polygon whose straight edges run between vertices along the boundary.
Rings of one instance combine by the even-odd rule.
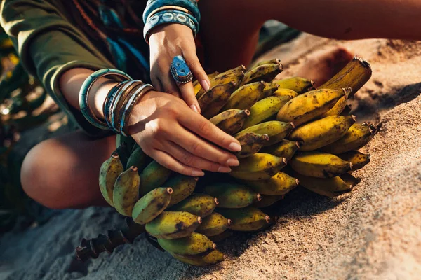
[[[180,98],[147,92],[135,105],[128,131],[156,162],[187,176],[203,176],[203,169],[230,172],[239,161],[239,141],[222,132]]]

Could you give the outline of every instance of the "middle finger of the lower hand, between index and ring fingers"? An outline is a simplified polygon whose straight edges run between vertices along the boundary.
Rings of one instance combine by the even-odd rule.
[[[197,114],[195,115],[200,116]],[[239,161],[236,159],[235,155],[208,143],[206,140],[189,132],[189,130],[186,130],[184,127],[173,127],[171,139],[168,137],[168,141],[173,141],[189,153],[210,162],[218,162],[220,165],[224,166],[239,165]]]

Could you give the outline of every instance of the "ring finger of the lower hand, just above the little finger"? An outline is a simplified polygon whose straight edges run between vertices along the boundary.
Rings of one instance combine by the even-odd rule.
[[[231,172],[231,168],[225,165],[220,165],[218,162],[211,162],[210,160],[205,160],[193,155],[173,142],[166,144],[166,151],[168,154],[172,155],[173,158],[189,167],[205,169],[212,172]]]

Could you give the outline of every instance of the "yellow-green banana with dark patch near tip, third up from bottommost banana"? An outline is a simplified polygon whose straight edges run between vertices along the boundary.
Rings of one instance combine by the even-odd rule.
[[[201,222],[201,217],[189,212],[163,211],[147,223],[145,228],[153,237],[176,239],[191,235]]]

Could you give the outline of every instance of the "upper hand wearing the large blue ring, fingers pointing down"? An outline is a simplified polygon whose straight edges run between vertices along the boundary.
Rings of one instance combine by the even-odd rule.
[[[171,62],[177,55],[185,58],[193,76],[199,80],[203,89],[210,86],[208,75],[203,70],[196,55],[196,45],[192,29],[185,25],[171,24],[156,27],[149,37],[151,80],[156,90],[175,96],[181,94],[187,105],[200,113],[199,103],[194,94],[193,84],[176,85],[170,73]]]

